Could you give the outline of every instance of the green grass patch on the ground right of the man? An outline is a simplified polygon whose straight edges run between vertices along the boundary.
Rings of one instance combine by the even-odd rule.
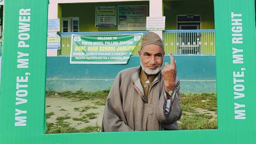
[[[217,129],[217,119],[209,112],[197,112],[196,108],[217,113],[216,94],[182,94],[180,99],[182,118],[178,123],[179,129]]]

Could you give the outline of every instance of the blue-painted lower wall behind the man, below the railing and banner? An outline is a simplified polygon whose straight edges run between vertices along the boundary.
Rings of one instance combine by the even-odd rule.
[[[216,92],[214,55],[175,55],[181,92]],[[165,62],[170,63],[169,56]],[[127,64],[69,64],[69,57],[47,57],[46,89],[98,91],[110,88],[118,71],[139,65],[132,56]]]

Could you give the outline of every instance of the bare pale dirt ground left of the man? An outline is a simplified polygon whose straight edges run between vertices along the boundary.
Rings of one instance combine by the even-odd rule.
[[[103,111],[105,106],[96,105],[94,102],[97,100],[73,100],[72,98],[63,97],[46,97],[46,113],[53,112],[54,115],[47,118],[47,123],[57,122],[57,117],[70,116],[71,118],[65,119],[64,122],[70,123],[70,127],[75,127],[76,129],[82,129],[86,126],[101,126]],[[82,112],[82,107],[93,107]],[[97,107],[97,108],[96,108]],[[75,109],[80,108],[79,110]],[[97,113],[97,117],[94,119],[88,119],[89,122],[74,121],[73,118],[81,118],[88,113]]]

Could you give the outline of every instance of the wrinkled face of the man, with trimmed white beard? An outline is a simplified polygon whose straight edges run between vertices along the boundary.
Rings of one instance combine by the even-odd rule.
[[[164,49],[156,44],[144,46],[139,51],[140,65],[147,74],[157,74],[164,60]]]

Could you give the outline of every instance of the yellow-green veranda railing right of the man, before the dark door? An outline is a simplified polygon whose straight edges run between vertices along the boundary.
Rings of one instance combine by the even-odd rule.
[[[165,53],[215,54],[215,30],[163,31]]]

